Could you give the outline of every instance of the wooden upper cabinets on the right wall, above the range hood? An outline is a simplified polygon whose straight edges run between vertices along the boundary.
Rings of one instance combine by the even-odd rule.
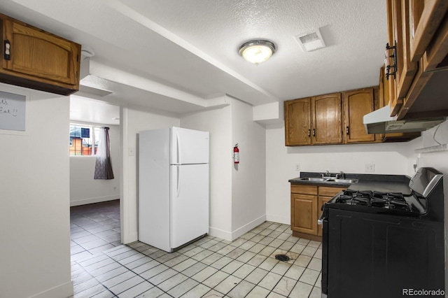
[[[448,68],[448,1],[386,0],[388,44],[385,82],[391,116],[398,120],[448,115],[443,82]],[[387,86],[386,86],[387,85]],[[387,87],[387,88],[386,88]]]

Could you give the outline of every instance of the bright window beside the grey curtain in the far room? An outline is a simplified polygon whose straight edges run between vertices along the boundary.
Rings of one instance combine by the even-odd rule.
[[[69,142],[70,155],[95,155],[98,149],[99,132],[99,127],[71,124]],[[93,152],[92,144],[94,144]]]

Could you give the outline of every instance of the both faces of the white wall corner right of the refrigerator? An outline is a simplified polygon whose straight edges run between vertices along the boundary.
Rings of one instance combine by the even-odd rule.
[[[252,106],[226,100],[230,106],[184,116],[181,127],[210,132],[210,234],[233,240],[265,221],[265,129],[253,122]]]

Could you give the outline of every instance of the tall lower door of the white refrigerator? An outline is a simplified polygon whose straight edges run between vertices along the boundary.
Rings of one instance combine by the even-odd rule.
[[[209,232],[209,164],[171,166],[171,248]]]

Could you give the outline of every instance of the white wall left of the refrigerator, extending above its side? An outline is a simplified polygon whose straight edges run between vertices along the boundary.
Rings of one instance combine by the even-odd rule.
[[[180,126],[180,119],[173,115],[160,115],[132,108],[120,108],[123,176],[120,181],[121,235],[123,243],[138,239],[138,133],[147,129]]]

